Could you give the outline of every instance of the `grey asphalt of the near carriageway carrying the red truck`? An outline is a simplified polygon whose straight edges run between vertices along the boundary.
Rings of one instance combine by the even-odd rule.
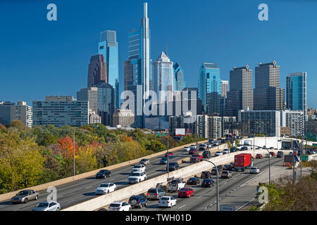
[[[281,165],[282,161],[282,158],[271,158],[271,165]],[[260,173],[264,172],[268,169],[268,158],[254,160],[254,166],[259,167]],[[256,195],[256,187],[244,186],[244,184],[256,176],[257,174],[249,174],[249,169],[246,169],[244,172],[232,172],[231,179],[219,178],[219,205],[235,205],[235,209],[238,210],[247,204]],[[172,208],[159,208],[158,200],[149,200],[147,207],[132,211],[216,211],[216,176],[212,179],[215,181],[215,186],[211,188],[201,188],[200,184],[186,185],[194,189],[194,196],[190,198],[178,198],[177,193],[166,193],[177,198],[177,204]]]

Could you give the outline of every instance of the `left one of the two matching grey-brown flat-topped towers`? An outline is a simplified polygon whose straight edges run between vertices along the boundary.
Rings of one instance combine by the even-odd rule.
[[[252,70],[249,70],[249,65],[230,70],[225,115],[237,117],[238,111],[245,107],[253,108]]]

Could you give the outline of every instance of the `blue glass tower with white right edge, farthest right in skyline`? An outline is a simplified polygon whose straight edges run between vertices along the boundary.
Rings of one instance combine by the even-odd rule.
[[[307,114],[306,72],[290,73],[286,77],[286,108]]]

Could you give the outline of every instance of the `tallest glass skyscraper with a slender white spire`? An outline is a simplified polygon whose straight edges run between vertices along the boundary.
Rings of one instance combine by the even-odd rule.
[[[135,108],[129,108],[135,114],[134,127],[144,127],[143,105],[151,90],[151,59],[150,59],[150,30],[147,17],[147,3],[144,3],[144,16],[138,30],[130,30],[129,58],[125,61],[124,83],[125,91],[135,94]],[[142,96],[137,96],[137,85],[142,86]],[[125,96],[125,99],[127,96]],[[137,105],[137,98],[142,99],[142,105]],[[137,114],[137,107],[142,109],[142,115]]]

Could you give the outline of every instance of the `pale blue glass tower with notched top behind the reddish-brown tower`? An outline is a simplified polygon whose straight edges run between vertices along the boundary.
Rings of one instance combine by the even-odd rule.
[[[119,58],[116,31],[101,32],[99,54],[104,56],[107,81],[114,88],[115,108],[119,108]]]

